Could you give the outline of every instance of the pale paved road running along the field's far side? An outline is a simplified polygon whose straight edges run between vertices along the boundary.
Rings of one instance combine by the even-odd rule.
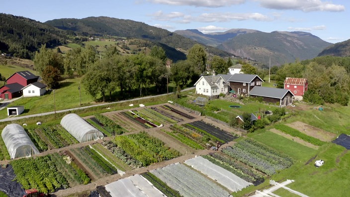
[[[194,87],[186,88],[186,89],[184,89],[182,91],[188,91],[188,90],[192,90],[192,89],[194,89]],[[173,94],[173,93],[169,93],[169,94]],[[126,101],[141,100],[141,99],[144,99],[144,98],[155,98],[155,97],[160,97],[160,96],[165,96],[165,95],[167,95],[167,94],[148,96],[148,97],[141,97],[141,98],[133,98],[133,99],[129,99],[129,100],[120,100],[120,101],[116,101],[116,102],[106,102],[106,103],[94,104],[94,105],[83,106],[83,107],[76,107],[76,108],[71,108],[71,109],[63,109],[63,110],[56,111],[56,113],[61,113],[61,112],[66,112],[66,111],[71,111],[71,110],[86,109],[86,108],[89,108],[89,107],[103,106],[103,105],[114,104],[114,103],[121,103],[121,102],[126,102]],[[29,117],[37,117],[37,116],[54,114],[54,113],[55,113],[55,111],[50,111],[50,112],[45,112],[45,113],[37,113],[37,114],[23,115],[23,116],[18,116],[18,117],[10,117],[10,118],[0,119],[0,122],[18,120],[18,119],[29,118]]]

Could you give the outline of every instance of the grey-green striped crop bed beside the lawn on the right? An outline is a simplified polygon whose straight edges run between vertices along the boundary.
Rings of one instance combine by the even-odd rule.
[[[292,165],[291,159],[285,156],[285,158],[279,157],[279,161],[274,161],[276,158],[271,151],[266,151],[269,148],[263,147],[264,145],[259,144],[251,140],[241,140],[235,144],[234,147],[226,147],[222,150],[225,154],[243,162],[255,169],[262,171],[267,175],[273,175],[277,170],[288,168]],[[249,148],[245,145],[251,143]],[[256,144],[256,145],[254,145]],[[248,150],[249,149],[249,150]],[[265,150],[265,151],[263,151]],[[269,155],[270,157],[266,156]]]

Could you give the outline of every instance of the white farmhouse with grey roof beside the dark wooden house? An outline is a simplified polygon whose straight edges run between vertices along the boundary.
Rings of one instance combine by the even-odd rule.
[[[194,84],[196,94],[205,96],[218,96],[220,93],[228,92],[229,84],[222,76],[205,75],[201,76]]]

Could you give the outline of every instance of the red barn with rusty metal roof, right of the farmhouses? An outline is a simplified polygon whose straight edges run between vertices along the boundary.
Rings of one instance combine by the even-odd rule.
[[[307,79],[287,77],[284,80],[284,89],[290,90],[294,96],[304,96],[307,91]]]

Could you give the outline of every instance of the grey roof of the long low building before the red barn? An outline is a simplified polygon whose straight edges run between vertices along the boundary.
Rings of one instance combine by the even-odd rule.
[[[267,87],[255,86],[248,93],[248,95],[282,99],[288,92],[290,92],[290,91],[287,89],[267,88]],[[290,94],[293,95],[292,92],[290,92]]]

